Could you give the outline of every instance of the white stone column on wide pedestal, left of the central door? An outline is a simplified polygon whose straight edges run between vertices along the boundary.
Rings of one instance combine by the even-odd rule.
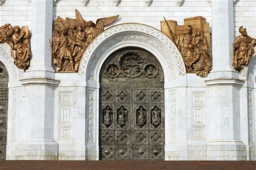
[[[31,62],[21,80],[24,85],[26,115],[23,136],[15,159],[57,160],[54,132],[54,91],[59,81],[51,63],[49,38],[52,33],[52,0],[31,2]]]

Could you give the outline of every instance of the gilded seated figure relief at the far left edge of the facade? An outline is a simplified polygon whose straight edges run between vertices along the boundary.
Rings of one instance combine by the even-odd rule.
[[[29,67],[30,58],[30,31],[27,26],[12,27],[5,24],[0,27],[0,43],[6,42],[11,47],[11,56],[14,64],[25,70]]]

